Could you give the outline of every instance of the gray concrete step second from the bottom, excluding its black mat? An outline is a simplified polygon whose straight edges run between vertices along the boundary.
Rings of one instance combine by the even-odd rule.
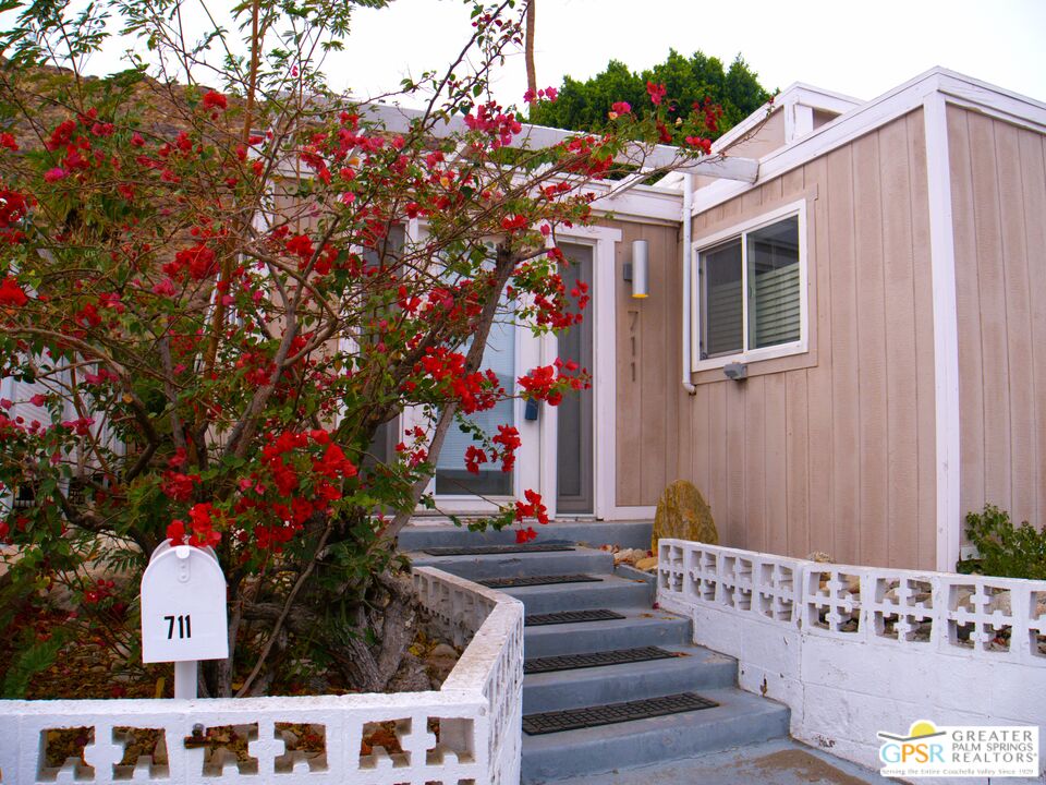
[[[528,674],[523,679],[523,713],[621,703],[676,692],[704,695],[704,690],[734,685],[734,660],[695,645],[659,645],[683,656]]]

